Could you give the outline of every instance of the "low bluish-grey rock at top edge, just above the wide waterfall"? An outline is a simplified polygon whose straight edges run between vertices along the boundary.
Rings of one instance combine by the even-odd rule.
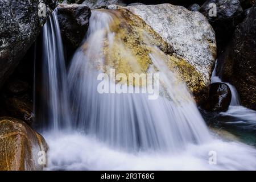
[[[82,5],[88,6],[90,9],[101,9],[109,5],[126,6],[121,0],[86,0]]]

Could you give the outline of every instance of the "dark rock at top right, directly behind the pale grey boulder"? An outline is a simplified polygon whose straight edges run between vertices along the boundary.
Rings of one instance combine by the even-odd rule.
[[[214,8],[211,3],[216,4],[216,16],[212,13]],[[243,9],[238,0],[208,0],[201,6],[200,12],[213,26],[216,32],[217,46],[222,49],[220,44],[225,44],[231,38],[237,24],[241,23]]]

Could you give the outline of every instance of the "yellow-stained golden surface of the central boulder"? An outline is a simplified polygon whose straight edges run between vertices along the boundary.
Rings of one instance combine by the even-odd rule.
[[[124,73],[127,77],[129,73],[148,73],[149,68],[155,68],[150,57],[151,53],[155,52],[163,58],[170,71],[177,73],[177,77],[186,82],[198,104],[207,98],[209,79],[206,81],[205,75],[202,75],[185,56],[175,53],[172,45],[168,44],[142,18],[122,8],[96,11],[108,13],[113,18],[109,30],[102,30],[106,34],[102,52],[104,63],[99,68],[104,69],[105,73],[108,73],[110,68],[115,69],[115,74]],[[112,39],[109,39],[110,34],[113,34]],[[215,45],[215,43],[212,44]],[[86,42],[83,48],[85,51],[88,49]],[[95,60],[97,56],[101,55],[96,55]],[[179,78],[177,80],[181,81]],[[127,84],[143,86],[136,85],[130,80]]]

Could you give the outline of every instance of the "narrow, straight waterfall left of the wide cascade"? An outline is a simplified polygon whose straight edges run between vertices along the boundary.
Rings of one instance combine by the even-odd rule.
[[[67,72],[57,10],[53,11],[43,27],[42,73],[39,84],[44,106],[37,117],[40,125],[53,130],[71,126]]]

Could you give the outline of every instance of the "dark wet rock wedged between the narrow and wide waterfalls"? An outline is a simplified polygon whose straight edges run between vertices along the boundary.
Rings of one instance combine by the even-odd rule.
[[[57,10],[61,36],[70,56],[85,37],[91,12],[86,5],[76,4],[60,4]]]

